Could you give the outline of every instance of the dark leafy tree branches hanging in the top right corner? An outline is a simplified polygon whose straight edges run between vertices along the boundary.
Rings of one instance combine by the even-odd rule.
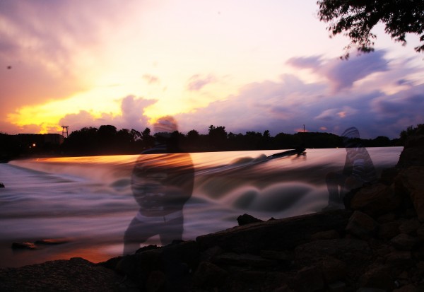
[[[381,21],[384,31],[396,42],[406,45],[406,34],[420,35],[421,44],[416,52],[424,51],[423,0],[320,0],[318,16],[329,23],[332,36],[343,34],[351,39],[345,47],[357,46],[360,52],[372,52],[376,35],[372,28]]]

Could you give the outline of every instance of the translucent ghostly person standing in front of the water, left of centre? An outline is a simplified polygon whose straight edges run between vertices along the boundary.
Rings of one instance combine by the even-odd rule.
[[[139,211],[124,234],[124,255],[139,249],[148,238],[159,235],[162,245],[181,240],[183,207],[192,196],[194,168],[189,153],[179,153],[177,123],[172,117],[154,125],[158,144],[143,151],[134,165],[131,189]]]

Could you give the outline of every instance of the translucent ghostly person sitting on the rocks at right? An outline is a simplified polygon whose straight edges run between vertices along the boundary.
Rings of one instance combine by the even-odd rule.
[[[370,154],[360,144],[358,129],[350,127],[341,136],[346,148],[346,161],[341,172],[326,175],[329,204],[325,210],[343,208],[343,197],[347,192],[377,180]]]

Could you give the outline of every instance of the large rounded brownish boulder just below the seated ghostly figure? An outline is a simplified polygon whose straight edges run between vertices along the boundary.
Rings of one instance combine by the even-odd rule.
[[[399,207],[401,197],[394,188],[377,183],[361,188],[351,200],[351,209],[379,216]]]

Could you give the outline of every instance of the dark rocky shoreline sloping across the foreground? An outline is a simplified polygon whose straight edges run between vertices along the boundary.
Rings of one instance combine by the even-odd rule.
[[[0,269],[0,291],[424,291],[424,136],[346,209],[260,221],[93,264]]]

